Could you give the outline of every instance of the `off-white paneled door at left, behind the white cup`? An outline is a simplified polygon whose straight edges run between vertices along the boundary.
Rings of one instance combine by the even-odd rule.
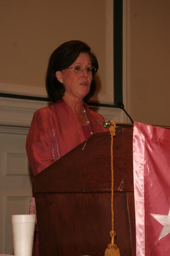
[[[13,253],[12,214],[27,214],[31,198],[25,128],[0,131],[0,253]]]

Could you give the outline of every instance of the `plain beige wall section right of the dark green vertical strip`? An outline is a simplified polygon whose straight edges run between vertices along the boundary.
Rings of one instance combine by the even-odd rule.
[[[170,126],[170,1],[131,0],[129,32],[130,113]]]

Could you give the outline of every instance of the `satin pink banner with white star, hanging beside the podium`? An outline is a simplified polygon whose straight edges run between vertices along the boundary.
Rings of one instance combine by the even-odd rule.
[[[170,129],[135,122],[137,256],[170,256]]]

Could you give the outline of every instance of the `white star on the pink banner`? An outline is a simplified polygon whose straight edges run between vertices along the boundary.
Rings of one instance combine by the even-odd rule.
[[[151,216],[164,226],[159,236],[159,241],[161,238],[167,236],[170,233],[170,210],[168,215],[159,215],[151,213]]]

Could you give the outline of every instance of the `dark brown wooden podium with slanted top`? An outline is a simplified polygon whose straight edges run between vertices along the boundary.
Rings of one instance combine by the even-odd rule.
[[[132,126],[114,137],[114,230],[136,255]],[[111,136],[93,135],[35,177],[40,256],[104,256],[111,230]]]

